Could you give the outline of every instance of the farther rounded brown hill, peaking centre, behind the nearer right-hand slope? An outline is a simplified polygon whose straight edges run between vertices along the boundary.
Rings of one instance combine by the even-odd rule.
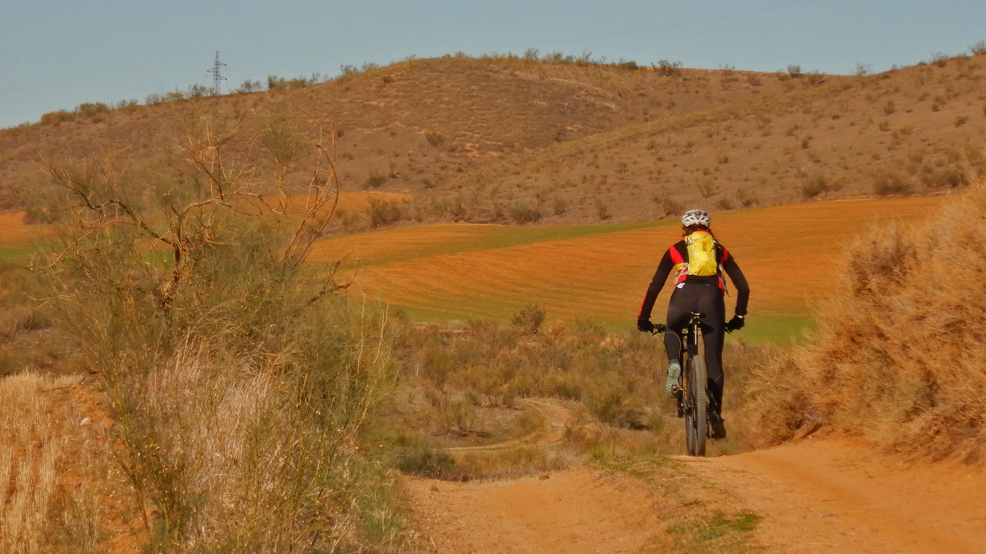
[[[371,175],[392,174],[396,178],[376,184],[420,192],[462,173],[488,173],[498,158],[516,160],[557,141],[704,109],[707,99],[673,99],[690,75],[704,73],[669,79],[612,65],[444,57],[410,59],[304,89],[205,102],[240,108],[244,137],[256,136],[273,118],[309,132],[334,124],[344,185],[361,188]],[[767,96],[784,91],[776,81],[762,89]],[[729,95],[716,97],[732,102]],[[188,104],[129,106],[8,129],[0,134],[0,183],[12,189],[42,178],[45,158],[122,148],[131,159],[159,157],[163,139],[179,134],[176,116]],[[237,147],[241,155],[256,150],[252,143]]]

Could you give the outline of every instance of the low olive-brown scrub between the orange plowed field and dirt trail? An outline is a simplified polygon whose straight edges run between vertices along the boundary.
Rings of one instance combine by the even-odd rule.
[[[405,388],[385,403],[378,432],[405,472],[454,480],[526,475],[632,453],[677,453],[683,428],[664,396],[663,343],[649,334],[608,333],[591,321],[544,322],[536,306],[510,324],[473,320],[464,325],[411,327],[404,352]],[[760,347],[731,343],[727,417],[744,406],[748,368]],[[550,449],[518,445],[450,455],[441,447],[522,436],[538,417],[522,398],[553,398],[571,414],[563,441]],[[499,411],[497,421],[485,412]],[[749,448],[755,438],[740,417],[717,452]],[[392,426],[387,430],[387,425]]]

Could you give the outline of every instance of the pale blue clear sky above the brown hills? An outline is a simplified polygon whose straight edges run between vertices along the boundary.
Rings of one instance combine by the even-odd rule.
[[[527,48],[852,73],[857,62],[881,71],[984,38],[984,0],[0,0],[0,127],[211,86],[216,50],[236,87],[408,55]]]

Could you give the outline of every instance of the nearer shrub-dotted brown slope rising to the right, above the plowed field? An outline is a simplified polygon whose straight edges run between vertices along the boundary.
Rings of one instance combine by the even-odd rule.
[[[679,94],[726,89],[736,102],[557,145],[491,189],[502,201],[528,198],[548,221],[634,221],[684,205],[724,210],[962,186],[981,171],[986,57],[943,61],[817,86],[787,79],[788,94],[756,100],[722,74],[695,76]],[[554,198],[570,205],[553,209]]]

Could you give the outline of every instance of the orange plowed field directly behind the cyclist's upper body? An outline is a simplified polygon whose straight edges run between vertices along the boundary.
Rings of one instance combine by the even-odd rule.
[[[940,200],[835,200],[715,215],[716,237],[752,289],[746,337],[784,339],[803,326],[811,304],[835,285],[846,242],[880,221],[919,220]],[[673,221],[436,225],[319,242],[316,258],[344,258],[354,290],[419,318],[504,318],[534,302],[549,317],[587,317],[620,328],[632,323],[661,255],[679,237]],[[666,288],[658,306],[668,296]],[[656,312],[655,319],[662,317]]]

